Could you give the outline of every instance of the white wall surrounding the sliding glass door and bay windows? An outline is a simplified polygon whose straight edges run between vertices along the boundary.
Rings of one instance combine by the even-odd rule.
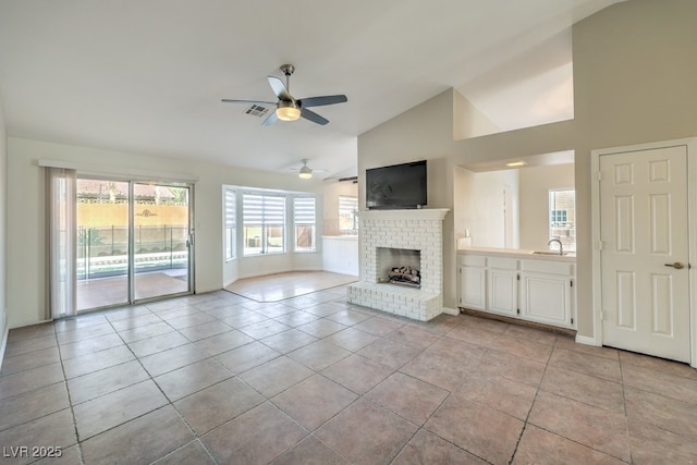
[[[223,184],[321,192],[321,181],[313,180],[308,183],[292,174],[273,174],[197,162],[193,159],[168,159],[9,137],[8,192],[16,193],[8,205],[7,217],[7,262],[12,264],[12,272],[7,274],[10,328],[40,321],[46,306],[45,180],[44,169],[37,164],[39,159],[98,167],[106,175],[120,171],[142,171],[162,176],[179,173],[198,178],[194,187],[194,267],[197,293],[221,289],[224,277],[235,273],[242,276],[242,272],[235,270],[236,260],[224,261]],[[317,262],[314,269],[321,269],[320,254],[314,255]],[[272,260],[265,258],[267,257],[259,257],[259,269],[285,267],[285,264],[278,262],[269,265],[277,257]]]

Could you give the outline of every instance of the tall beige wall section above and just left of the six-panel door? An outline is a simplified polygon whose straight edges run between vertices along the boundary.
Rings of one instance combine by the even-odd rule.
[[[574,27],[578,332],[592,336],[590,151],[697,135],[697,2],[632,0]]]

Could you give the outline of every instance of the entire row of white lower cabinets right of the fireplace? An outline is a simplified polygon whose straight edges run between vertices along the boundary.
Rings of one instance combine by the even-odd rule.
[[[460,306],[575,328],[575,264],[461,256]]]

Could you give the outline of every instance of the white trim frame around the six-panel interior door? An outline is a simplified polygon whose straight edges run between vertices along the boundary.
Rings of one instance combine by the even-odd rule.
[[[697,157],[697,137],[688,137],[673,140],[661,140],[648,144],[629,145],[622,147],[611,147],[590,151],[590,198],[591,198],[591,222],[592,222],[592,315],[594,315],[594,338],[576,336],[576,342],[580,338],[594,340],[595,345],[602,345],[602,284],[601,284],[601,252],[598,247],[600,242],[600,183],[598,172],[600,171],[600,157],[604,155],[622,154],[626,151],[652,150],[657,148],[669,148],[685,146],[687,148],[687,205],[688,205],[688,241],[689,241],[689,340],[690,340],[690,363],[697,368],[697,215],[694,212],[697,207],[697,162],[690,159]]]

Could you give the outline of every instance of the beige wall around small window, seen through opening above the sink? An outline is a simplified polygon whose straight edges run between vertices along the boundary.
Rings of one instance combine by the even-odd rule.
[[[521,248],[546,250],[549,241],[549,191],[574,188],[574,166],[519,170]]]

